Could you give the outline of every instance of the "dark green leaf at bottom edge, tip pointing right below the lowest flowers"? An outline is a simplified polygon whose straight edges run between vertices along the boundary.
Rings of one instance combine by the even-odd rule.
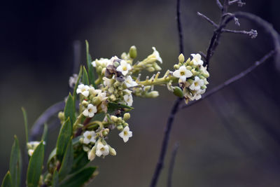
[[[97,167],[87,167],[80,172],[73,174],[69,179],[63,181],[59,187],[78,187],[83,186],[84,183],[89,181],[94,176],[94,171]]]

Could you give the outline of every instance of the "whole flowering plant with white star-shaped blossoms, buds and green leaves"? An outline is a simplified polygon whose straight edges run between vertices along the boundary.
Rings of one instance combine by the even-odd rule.
[[[135,46],[120,58],[92,61],[87,41],[86,46],[87,69],[80,67],[79,74],[69,79],[73,93],[66,98],[64,111],[58,113],[62,126],[43,173],[48,127],[45,126],[41,141],[29,141],[27,133],[27,186],[80,186],[96,176],[97,167],[86,167],[87,163],[96,157],[116,155],[116,149],[107,143],[112,130],[118,130],[124,142],[132,137],[127,121],[129,112],[134,109],[133,97],[158,97],[155,85],[166,85],[174,95],[184,97],[186,103],[200,99],[207,88],[209,73],[199,54],[192,54],[192,59],[188,58],[186,62],[183,54],[179,55],[175,70],[167,70],[160,78],[162,58],[155,48],[141,61],[135,60]],[[157,72],[141,81],[140,73],[144,70]],[[16,137],[11,162],[12,167],[3,183],[20,186],[21,155]]]

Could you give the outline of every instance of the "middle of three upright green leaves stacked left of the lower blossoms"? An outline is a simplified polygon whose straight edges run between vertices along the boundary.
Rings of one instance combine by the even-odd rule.
[[[72,125],[68,118],[62,125],[58,138],[57,138],[57,159],[62,162],[64,153],[67,148],[67,144],[71,139]]]

